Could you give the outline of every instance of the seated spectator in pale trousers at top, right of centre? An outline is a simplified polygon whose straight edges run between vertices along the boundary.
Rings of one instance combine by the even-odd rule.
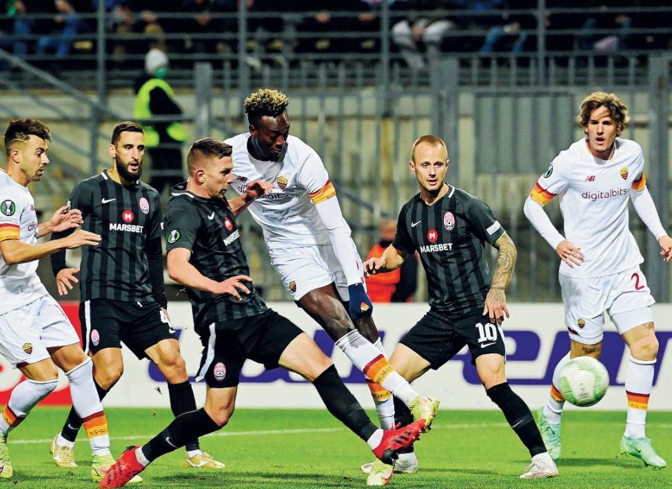
[[[392,25],[392,42],[399,47],[404,61],[413,70],[427,68],[421,53],[422,46],[427,52],[428,61],[440,57],[443,37],[454,28],[455,23],[434,10],[451,7],[452,2],[448,0],[398,0],[394,3],[395,9],[414,11],[406,19]]]

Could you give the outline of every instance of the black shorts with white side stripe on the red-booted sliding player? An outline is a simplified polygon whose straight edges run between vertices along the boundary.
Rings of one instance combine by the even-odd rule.
[[[213,322],[196,329],[203,343],[203,357],[196,382],[205,379],[211,388],[235,387],[248,358],[271,369],[287,345],[303,331],[269,309],[231,321]]]

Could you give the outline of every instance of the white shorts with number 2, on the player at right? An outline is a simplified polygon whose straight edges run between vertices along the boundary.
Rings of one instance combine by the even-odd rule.
[[[580,343],[596,344],[604,333],[604,312],[609,312],[618,334],[653,322],[655,302],[640,267],[595,278],[560,275],[564,322],[569,337]]]

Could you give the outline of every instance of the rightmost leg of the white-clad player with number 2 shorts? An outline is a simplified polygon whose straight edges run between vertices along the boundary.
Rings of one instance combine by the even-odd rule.
[[[627,318],[627,316],[632,316]],[[650,322],[627,329],[627,321],[647,317]],[[651,308],[633,313],[613,315],[623,340],[630,348],[630,359],[625,377],[625,391],[628,399],[625,432],[620,441],[620,452],[632,455],[644,462],[646,466],[664,468],[667,463],[660,457],[651,440],[646,437],[646,412],[649,408],[649,395],[653,386],[653,367],[658,355],[658,340],[655,337],[653,314]]]

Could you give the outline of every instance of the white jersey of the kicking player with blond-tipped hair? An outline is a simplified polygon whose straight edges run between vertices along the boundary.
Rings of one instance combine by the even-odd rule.
[[[250,133],[225,140],[233,147],[236,194],[245,194],[247,183],[266,180],[273,188],[249,207],[264,231],[269,249],[329,245],[329,233],[315,204],[336,194],[322,158],[312,147],[294,136],[287,137],[281,160],[261,161],[247,152]],[[350,228],[345,223],[347,233]]]

